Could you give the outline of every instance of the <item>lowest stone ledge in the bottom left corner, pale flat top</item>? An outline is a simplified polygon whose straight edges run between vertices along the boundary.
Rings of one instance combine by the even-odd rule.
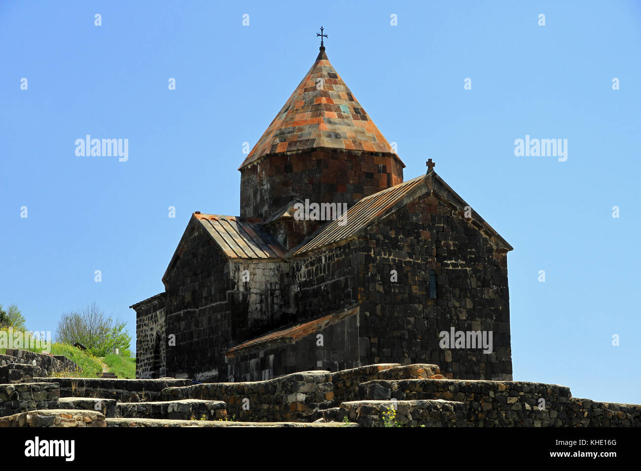
[[[98,411],[42,409],[0,417],[0,427],[106,427]]]

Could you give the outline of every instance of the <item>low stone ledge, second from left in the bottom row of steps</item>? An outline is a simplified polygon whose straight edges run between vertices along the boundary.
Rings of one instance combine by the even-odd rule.
[[[116,416],[123,418],[215,420],[227,418],[226,406],[227,404],[224,401],[208,401],[204,399],[119,402],[116,404]]]

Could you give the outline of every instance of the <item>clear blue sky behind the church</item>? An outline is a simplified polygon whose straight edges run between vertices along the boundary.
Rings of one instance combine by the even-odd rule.
[[[0,303],[55,331],[95,301],[135,335],[191,213],[238,215],[243,143],[320,26],[405,179],[432,158],[513,245],[514,379],[640,404],[637,1],[4,1]],[[76,156],[85,135],[127,138],[128,160]],[[567,139],[567,161],[515,156],[526,135]]]

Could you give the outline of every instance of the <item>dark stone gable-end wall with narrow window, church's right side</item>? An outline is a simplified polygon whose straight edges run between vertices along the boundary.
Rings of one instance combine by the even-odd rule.
[[[512,379],[507,257],[483,229],[426,194],[370,227],[359,247],[368,363],[435,363],[456,379]],[[397,281],[390,281],[392,270]],[[429,297],[429,270],[436,299]],[[492,331],[492,353],[440,348],[439,333],[451,327]]]

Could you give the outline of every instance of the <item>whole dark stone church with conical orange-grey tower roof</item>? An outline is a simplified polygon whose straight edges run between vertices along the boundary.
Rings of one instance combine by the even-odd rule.
[[[431,159],[408,181],[404,167],[321,45],[238,169],[240,216],[194,212],[165,290],[131,306],[136,376],[435,363],[453,379],[512,379],[512,247]]]

